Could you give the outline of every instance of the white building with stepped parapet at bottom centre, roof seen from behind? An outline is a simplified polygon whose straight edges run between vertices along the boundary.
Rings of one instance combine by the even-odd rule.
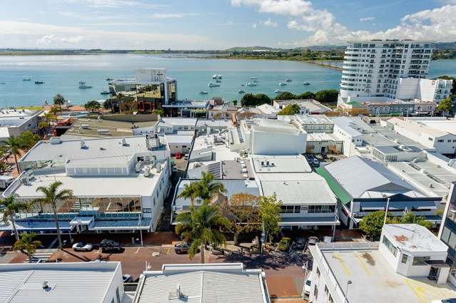
[[[144,272],[133,303],[270,303],[265,273],[242,263],[163,265]]]

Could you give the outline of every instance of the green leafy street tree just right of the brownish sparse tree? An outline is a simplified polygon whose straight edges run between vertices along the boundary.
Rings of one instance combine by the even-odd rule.
[[[282,201],[277,200],[276,195],[270,197],[261,197],[260,199],[260,220],[265,230],[265,240],[273,239],[280,232],[280,211],[282,210]]]

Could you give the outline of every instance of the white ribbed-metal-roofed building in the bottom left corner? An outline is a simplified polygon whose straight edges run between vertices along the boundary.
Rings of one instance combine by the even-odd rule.
[[[1,302],[123,303],[121,262],[0,265]]]

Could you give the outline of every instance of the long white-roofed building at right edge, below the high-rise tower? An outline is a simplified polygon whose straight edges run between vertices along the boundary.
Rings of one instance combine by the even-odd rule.
[[[456,152],[456,130],[452,128],[456,125],[454,120],[391,118],[387,120],[387,125],[427,148],[435,148],[443,155],[454,155]]]

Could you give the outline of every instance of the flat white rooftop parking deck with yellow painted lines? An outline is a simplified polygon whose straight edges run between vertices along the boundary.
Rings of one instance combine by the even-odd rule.
[[[427,277],[411,278],[397,274],[378,250],[335,248],[322,250],[322,253],[343,292],[348,280],[352,282],[348,285],[349,303],[430,303],[456,297],[450,284],[437,285]],[[325,270],[328,269],[320,269],[322,274],[327,274]]]

